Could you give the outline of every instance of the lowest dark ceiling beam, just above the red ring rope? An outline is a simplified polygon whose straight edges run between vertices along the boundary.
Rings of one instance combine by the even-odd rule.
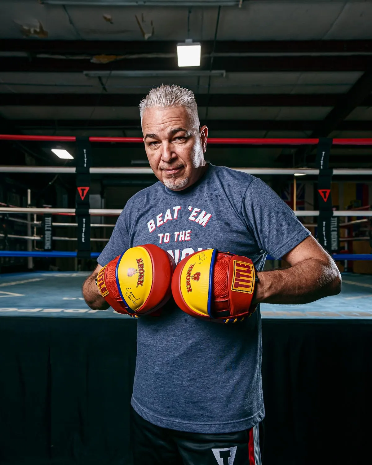
[[[138,120],[12,120],[14,126],[22,131],[35,129],[140,129]],[[208,120],[208,128],[213,130],[237,131],[314,131],[319,121],[314,120]],[[372,132],[372,121],[341,121],[336,127],[339,131]]]

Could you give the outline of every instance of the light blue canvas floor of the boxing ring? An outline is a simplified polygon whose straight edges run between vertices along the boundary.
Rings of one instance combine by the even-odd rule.
[[[0,316],[130,318],[91,310],[81,296],[88,272],[9,273],[0,277]],[[306,305],[261,304],[263,318],[372,318],[372,275],[343,273],[342,291]]]

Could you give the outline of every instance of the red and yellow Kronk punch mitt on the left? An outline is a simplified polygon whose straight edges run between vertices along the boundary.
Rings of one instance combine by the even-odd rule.
[[[161,308],[172,295],[172,257],[153,244],[131,247],[97,276],[102,297],[116,312],[132,317]]]

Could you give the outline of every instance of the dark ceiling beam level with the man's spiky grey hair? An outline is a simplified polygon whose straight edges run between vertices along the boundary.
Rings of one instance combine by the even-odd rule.
[[[145,94],[3,93],[2,106],[138,106]],[[198,106],[334,106],[342,94],[196,94]],[[365,97],[365,96],[364,96]],[[372,96],[359,104],[372,105]]]

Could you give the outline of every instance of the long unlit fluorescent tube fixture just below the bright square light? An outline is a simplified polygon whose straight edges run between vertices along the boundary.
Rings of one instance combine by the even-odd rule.
[[[226,76],[224,69],[213,71],[173,70],[173,71],[83,71],[87,78],[190,78],[190,77],[222,77]]]

